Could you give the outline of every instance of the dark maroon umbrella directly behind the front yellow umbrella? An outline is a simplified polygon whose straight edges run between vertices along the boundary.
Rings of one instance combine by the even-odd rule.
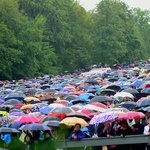
[[[66,117],[78,117],[78,118],[82,118],[82,119],[84,119],[86,121],[91,120],[91,118],[88,115],[83,114],[81,112],[72,112],[72,113],[67,114]]]

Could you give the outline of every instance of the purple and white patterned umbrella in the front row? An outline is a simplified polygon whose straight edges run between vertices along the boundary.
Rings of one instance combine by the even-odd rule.
[[[106,112],[106,113],[101,113],[95,117],[93,117],[90,121],[90,124],[99,124],[99,123],[104,123],[107,121],[112,121],[116,119],[118,115],[113,112]]]

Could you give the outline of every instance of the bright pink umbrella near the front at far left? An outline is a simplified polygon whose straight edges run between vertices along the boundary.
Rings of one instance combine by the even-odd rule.
[[[39,122],[39,120],[35,116],[21,116],[18,119],[16,119],[15,122],[33,123]]]

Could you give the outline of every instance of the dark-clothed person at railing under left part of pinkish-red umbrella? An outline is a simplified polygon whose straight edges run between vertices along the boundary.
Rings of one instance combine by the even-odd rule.
[[[121,137],[132,135],[131,127],[128,125],[126,120],[121,121],[121,126],[119,127],[116,134]],[[130,145],[118,145],[117,148],[118,150],[130,150]]]

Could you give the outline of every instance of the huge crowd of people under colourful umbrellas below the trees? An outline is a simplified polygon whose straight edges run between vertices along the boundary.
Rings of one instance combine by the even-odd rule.
[[[145,70],[145,66],[148,65],[149,61],[146,61],[134,66],[115,65],[113,68],[96,67],[91,68],[88,72],[68,73],[51,77],[44,76],[11,82],[1,81],[1,128],[17,129],[19,133],[10,131],[1,132],[0,147],[10,150],[53,150],[57,149],[55,141],[64,139],[82,140],[85,138],[109,138],[116,136],[123,138],[127,135],[149,135],[150,119],[149,116],[144,114],[145,112],[141,103],[142,99],[140,100],[143,96],[145,96],[144,100],[148,101],[147,99],[149,99],[148,92],[141,92],[150,87],[147,86],[150,85],[149,70]],[[136,81],[138,81],[138,84]],[[142,84],[146,86],[140,87]],[[114,89],[109,89],[111,86]],[[122,93],[121,97],[117,97],[117,94],[120,94],[124,89],[130,89],[131,91],[134,89],[137,90],[137,93],[131,94],[129,92],[128,95],[123,95],[124,93]],[[98,99],[98,97],[100,98]],[[95,100],[94,98],[97,98],[98,101],[93,101]],[[102,100],[101,98],[105,99]],[[125,105],[122,104],[128,102],[132,102],[131,104],[135,105],[132,108],[127,107],[126,111],[123,112],[122,108]],[[116,106],[122,111],[121,113],[126,113],[127,110],[143,110],[144,117],[138,115],[132,119],[118,119],[119,117],[116,117],[96,124],[90,123],[91,119],[95,116],[107,112],[110,108],[116,108]],[[150,100],[144,105],[144,108],[149,106]],[[62,111],[63,108],[65,108],[65,112]],[[65,127],[62,127],[61,121],[67,118],[67,115],[71,112],[75,115],[77,115],[76,113],[85,115],[84,117],[82,116],[83,118],[78,115],[74,115],[74,117],[81,117],[86,121],[87,125],[83,126],[82,123],[75,122],[74,125],[66,124]],[[116,113],[117,116],[120,115],[120,112],[116,111]],[[28,117],[33,114],[38,121],[29,122],[28,119],[25,121],[18,120],[20,117]],[[46,120],[48,121],[46,125],[48,129],[21,129],[25,125],[32,123],[44,126],[45,122],[42,119],[46,117],[49,117]],[[54,122],[51,123],[51,121]],[[48,125],[48,123],[51,124]],[[55,123],[58,124],[56,125]],[[103,150],[104,148],[107,150],[149,150],[150,145],[137,143],[86,147],[86,149],[96,150]]]

